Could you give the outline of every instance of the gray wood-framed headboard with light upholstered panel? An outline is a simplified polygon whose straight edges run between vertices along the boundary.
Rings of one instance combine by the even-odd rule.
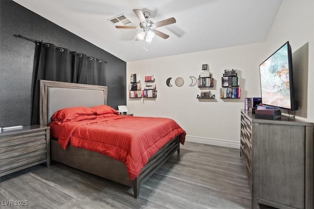
[[[67,107],[107,104],[107,87],[40,80],[40,124],[48,125],[56,111]]]

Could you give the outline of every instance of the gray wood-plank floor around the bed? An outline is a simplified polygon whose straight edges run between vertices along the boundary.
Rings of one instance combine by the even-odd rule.
[[[157,172],[133,189],[52,163],[1,177],[1,209],[250,209],[239,149],[185,142]],[[5,202],[6,201],[6,202]],[[27,206],[5,206],[27,201]]]

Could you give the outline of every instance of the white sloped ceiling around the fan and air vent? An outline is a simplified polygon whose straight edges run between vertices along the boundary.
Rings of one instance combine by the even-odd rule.
[[[14,1],[126,62],[263,42],[282,3],[282,0]],[[164,40],[156,36],[146,51],[143,41],[135,41],[141,29],[117,29],[107,21],[123,13],[139,25],[133,9],[150,11],[150,20],[155,23],[174,17],[177,23],[158,28],[170,37]]]

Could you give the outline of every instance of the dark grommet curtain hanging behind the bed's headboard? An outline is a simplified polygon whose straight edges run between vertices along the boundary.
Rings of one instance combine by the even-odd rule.
[[[37,43],[32,82],[31,124],[39,124],[40,80],[105,86],[105,61],[53,44]]]

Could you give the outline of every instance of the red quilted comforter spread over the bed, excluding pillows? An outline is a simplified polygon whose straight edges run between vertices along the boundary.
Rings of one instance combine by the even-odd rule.
[[[55,125],[52,122],[51,128]],[[161,117],[112,116],[59,126],[58,142],[63,149],[71,142],[126,163],[131,180],[161,147],[177,136],[184,144],[186,135],[173,119]]]

